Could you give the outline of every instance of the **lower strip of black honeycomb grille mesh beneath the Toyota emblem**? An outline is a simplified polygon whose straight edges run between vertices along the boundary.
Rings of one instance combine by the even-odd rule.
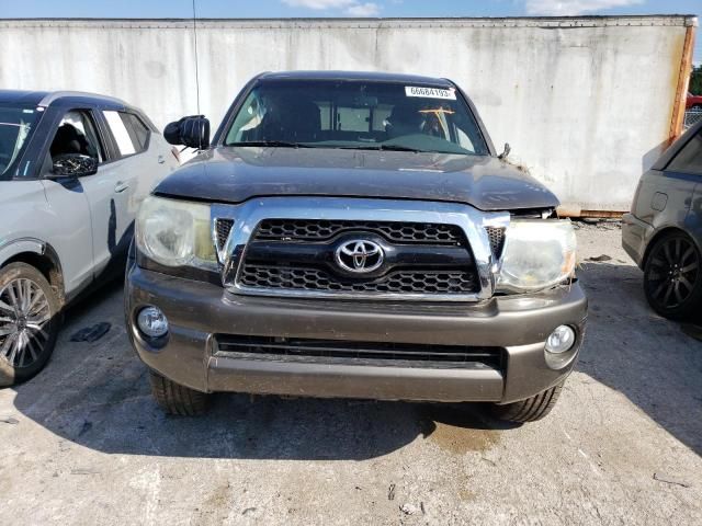
[[[474,293],[477,279],[465,271],[397,271],[366,282],[344,281],[318,268],[246,264],[239,283],[253,288],[385,294]]]

